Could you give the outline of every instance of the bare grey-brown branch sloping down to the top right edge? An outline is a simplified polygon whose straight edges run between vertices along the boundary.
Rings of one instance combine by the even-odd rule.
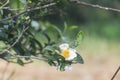
[[[110,7],[104,7],[104,6],[101,6],[101,5],[90,4],[90,3],[86,3],[86,2],[81,2],[79,0],[70,0],[70,2],[74,2],[78,5],[90,6],[90,7],[93,7],[93,8],[99,8],[99,9],[103,9],[103,10],[106,10],[106,11],[114,11],[114,12],[119,12],[120,13],[120,9],[115,9],[115,8],[110,8]]]

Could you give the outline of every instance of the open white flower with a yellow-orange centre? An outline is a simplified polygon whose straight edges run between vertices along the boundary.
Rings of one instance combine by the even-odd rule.
[[[77,54],[76,54],[76,50],[69,48],[69,44],[64,43],[61,44],[59,46],[60,50],[61,50],[61,55],[66,59],[66,60],[72,60],[74,59]]]

